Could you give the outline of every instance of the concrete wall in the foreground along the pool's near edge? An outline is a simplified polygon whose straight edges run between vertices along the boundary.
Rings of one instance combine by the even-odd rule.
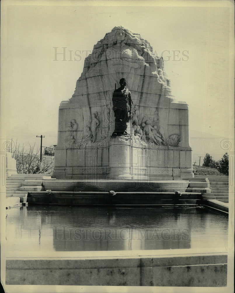
[[[92,256],[95,253],[98,256]],[[73,257],[54,259],[55,253],[44,259],[7,258],[6,284],[188,287],[227,285],[227,253],[223,251],[103,251],[86,252],[85,257],[81,257],[81,254],[82,252],[75,252],[70,253]],[[75,255],[78,256],[74,257]]]

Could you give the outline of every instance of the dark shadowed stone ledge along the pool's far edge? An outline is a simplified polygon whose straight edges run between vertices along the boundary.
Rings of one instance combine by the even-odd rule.
[[[182,193],[180,196],[173,192],[61,192],[61,191],[29,191],[27,202],[32,204],[55,205],[179,205],[196,204],[201,200],[201,193]]]

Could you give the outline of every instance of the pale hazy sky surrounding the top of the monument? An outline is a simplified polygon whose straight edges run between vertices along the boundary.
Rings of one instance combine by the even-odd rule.
[[[232,1],[1,1],[1,137],[57,144],[58,108],[85,57],[116,25],[162,56],[172,94],[189,105],[192,160],[234,137]],[[232,24],[232,25],[231,25]],[[65,52],[63,54],[56,54]],[[57,61],[56,61],[57,60]],[[129,86],[130,90],[131,87]],[[223,140],[225,139],[225,140]]]

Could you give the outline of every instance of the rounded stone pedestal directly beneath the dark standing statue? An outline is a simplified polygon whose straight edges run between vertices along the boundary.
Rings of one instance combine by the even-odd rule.
[[[133,180],[130,136],[111,137],[108,179]]]

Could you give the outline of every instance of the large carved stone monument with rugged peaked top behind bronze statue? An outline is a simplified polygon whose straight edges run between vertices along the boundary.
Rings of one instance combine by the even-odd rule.
[[[116,135],[113,97],[121,79],[133,104],[125,133]],[[53,177],[190,178],[188,135],[188,105],[171,94],[163,59],[139,34],[114,27],[85,59],[72,98],[60,104]]]

